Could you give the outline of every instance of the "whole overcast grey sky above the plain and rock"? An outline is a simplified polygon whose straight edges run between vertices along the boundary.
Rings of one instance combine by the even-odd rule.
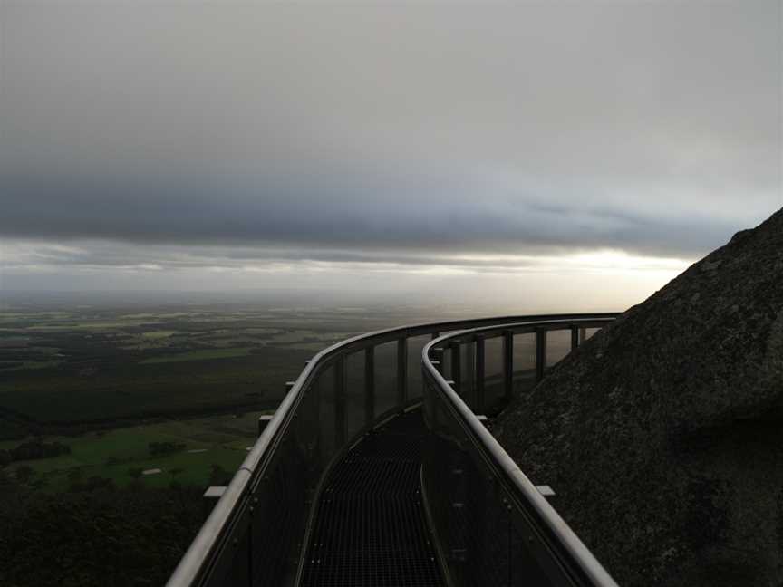
[[[781,12],[0,0],[0,295],[622,310],[783,207]]]

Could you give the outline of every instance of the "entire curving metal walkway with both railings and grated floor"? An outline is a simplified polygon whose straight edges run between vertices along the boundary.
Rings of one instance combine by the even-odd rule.
[[[412,324],[318,352],[168,587],[617,587],[477,416],[615,315]]]

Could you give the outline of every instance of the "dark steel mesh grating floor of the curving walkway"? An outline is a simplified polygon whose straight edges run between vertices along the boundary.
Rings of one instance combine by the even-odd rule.
[[[304,585],[440,587],[420,495],[420,412],[392,419],[333,467],[320,497]]]

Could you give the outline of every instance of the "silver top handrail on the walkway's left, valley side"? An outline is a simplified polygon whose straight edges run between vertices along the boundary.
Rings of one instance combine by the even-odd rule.
[[[601,320],[614,317],[614,315],[614,313],[595,313],[589,316],[593,320]],[[308,390],[314,378],[320,372],[333,365],[335,361],[339,361],[353,352],[371,350],[386,342],[398,342],[398,385],[403,387],[401,395],[404,399],[404,386],[407,385],[407,379],[403,380],[399,376],[401,373],[407,372],[407,362],[401,362],[399,358],[406,356],[406,344],[410,338],[424,335],[433,335],[434,338],[434,335],[438,335],[440,332],[465,331],[466,329],[476,327],[491,328],[503,324],[519,324],[522,321],[553,322],[570,320],[573,322],[575,319],[584,316],[585,314],[543,314],[415,324],[355,336],[318,352],[311,361],[308,361],[294,385],[286,393],[285,398],[275,411],[274,418],[269,421],[263,433],[256,440],[254,447],[237,470],[237,473],[231,479],[225,493],[208,515],[206,522],[202,525],[196,538],[190,544],[188,551],[180,560],[167,585],[169,587],[190,587],[203,585],[207,582],[209,573],[218,564],[218,555],[227,545],[226,543],[230,538],[232,530],[237,524],[241,523],[240,518],[247,512],[247,509],[252,509],[253,494],[265,474],[266,467],[268,467],[275,455],[275,449],[285,437],[285,433],[295,417],[296,409],[299,407],[304,393]],[[431,346],[430,344],[427,348],[429,349]],[[445,383],[445,380],[443,380],[443,383]],[[345,443],[350,441],[351,438],[344,439]]]

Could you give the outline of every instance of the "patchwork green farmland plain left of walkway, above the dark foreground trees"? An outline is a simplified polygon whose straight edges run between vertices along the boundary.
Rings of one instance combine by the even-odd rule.
[[[215,467],[236,470],[304,361],[400,320],[362,308],[0,312],[0,450],[70,447],[8,467],[32,470],[30,486],[47,492],[92,476],[205,486]],[[154,443],[176,448],[153,455]]]

